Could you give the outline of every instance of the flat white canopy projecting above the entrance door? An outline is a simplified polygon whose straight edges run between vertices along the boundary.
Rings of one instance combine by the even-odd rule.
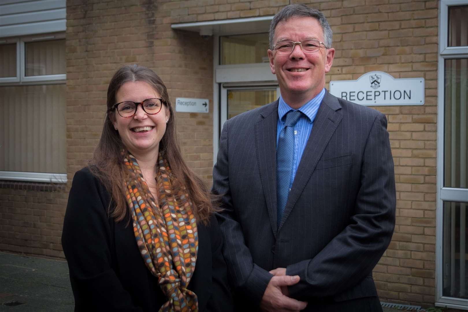
[[[273,15],[220,21],[179,23],[172,24],[171,28],[194,31],[199,33],[201,36],[242,35],[268,32],[270,30],[270,23],[272,19]]]

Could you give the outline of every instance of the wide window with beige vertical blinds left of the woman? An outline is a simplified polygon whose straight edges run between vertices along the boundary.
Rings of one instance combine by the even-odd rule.
[[[65,34],[0,38],[0,179],[66,182]]]

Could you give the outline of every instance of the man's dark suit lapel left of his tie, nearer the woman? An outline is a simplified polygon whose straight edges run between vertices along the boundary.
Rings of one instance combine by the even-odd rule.
[[[261,119],[255,124],[257,161],[263,193],[270,217],[271,229],[276,237],[276,136],[278,127],[278,100],[260,110]]]

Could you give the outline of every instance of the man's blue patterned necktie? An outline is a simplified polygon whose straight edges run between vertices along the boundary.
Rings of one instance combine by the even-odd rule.
[[[283,218],[286,201],[291,185],[292,166],[294,166],[294,125],[301,116],[299,110],[286,113],[285,127],[279,133],[278,147],[276,148],[276,192],[277,192],[277,224]]]

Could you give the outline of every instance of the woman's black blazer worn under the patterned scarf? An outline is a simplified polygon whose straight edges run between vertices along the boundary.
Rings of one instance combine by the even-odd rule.
[[[62,246],[75,311],[158,311],[167,299],[139,253],[133,227],[109,217],[110,196],[88,168],[70,189]],[[232,311],[222,236],[214,216],[198,228],[198,254],[189,289],[199,311]]]

